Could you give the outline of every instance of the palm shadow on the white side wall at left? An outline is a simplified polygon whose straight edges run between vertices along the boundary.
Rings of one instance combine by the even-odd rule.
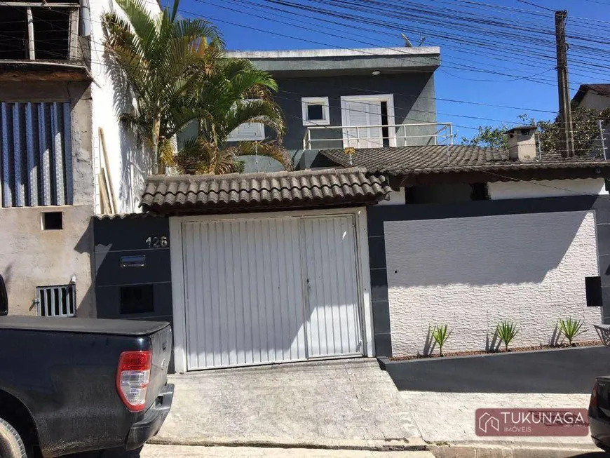
[[[114,65],[104,51],[104,62],[109,68],[109,76],[114,86],[114,112],[117,119],[121,114],[135,111],[134,95],[125,74]],[[153,170],[151,148],[136,132],[119,122],[119,142],[121,145],[121,177],[118,182],[118,206],[123,213],[137,212],[144,192],[147,177]],[[110,154],[110,151],[108,151]],[[117,183],[114,183],[116,186]]]

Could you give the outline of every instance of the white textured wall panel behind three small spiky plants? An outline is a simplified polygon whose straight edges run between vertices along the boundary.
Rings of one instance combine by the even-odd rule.
[[[520,327],[513,346],[548,344],[557,318],[585,320],[595,338],[601,310],[586,307],[597,276],[593,212],[385,222],[394,356],[423,353],[428,327],[447,324],[445,351],[485,349],[496,323]]]

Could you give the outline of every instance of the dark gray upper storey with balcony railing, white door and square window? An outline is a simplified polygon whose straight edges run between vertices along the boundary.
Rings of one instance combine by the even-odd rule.
[[[270,72],[287,123],[283,144],[296,169],[328,164],[320,149],[403,147],[450,142],[437,124],[434,72],[440,49],[367,48],[234,51]],[[261,124],[242,126],[234,140],[273,135]],[[246,158],[246,171],[281,170],[273,159]]]

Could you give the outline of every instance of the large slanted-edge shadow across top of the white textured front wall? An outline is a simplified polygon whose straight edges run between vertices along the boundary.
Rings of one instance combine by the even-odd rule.
[[[570,212],[386,222],[388,280],[405,288],[540,283],[560,265],[586,217]],[[590,255],[597,259],[596,252]]]

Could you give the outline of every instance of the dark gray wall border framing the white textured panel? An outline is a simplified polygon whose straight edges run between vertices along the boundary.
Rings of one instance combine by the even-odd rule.
[[[520,198],[452,204],[374,206],[367,210],[373,323],[377,356],[392,356],[384,222],[595,210],[604,322],[610,318],[610,206],[604,196]],[[553,237],[553,227],[541,230]],[[501,243],[501,241],[498,241]],[[425,269],[425,266],[423,266]],[[583,279],[583,289],[585,287]]]

